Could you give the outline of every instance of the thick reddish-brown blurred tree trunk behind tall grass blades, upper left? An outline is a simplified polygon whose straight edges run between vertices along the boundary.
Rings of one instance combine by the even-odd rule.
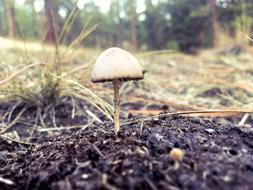
[[[47,43],[56,43],[56,28],[55,28],[55,15],[54,7],[51,0],[44,0],[45,4],[45,28],[46,35],[44,41]]]

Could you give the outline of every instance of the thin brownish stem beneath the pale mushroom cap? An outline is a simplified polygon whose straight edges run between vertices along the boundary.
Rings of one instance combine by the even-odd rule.
[[[118,134],[120,125],[119,125],[119,87],[120,81],[119,79],[113,80],[113,88],[114,88],[114,130],[115,133]]]

